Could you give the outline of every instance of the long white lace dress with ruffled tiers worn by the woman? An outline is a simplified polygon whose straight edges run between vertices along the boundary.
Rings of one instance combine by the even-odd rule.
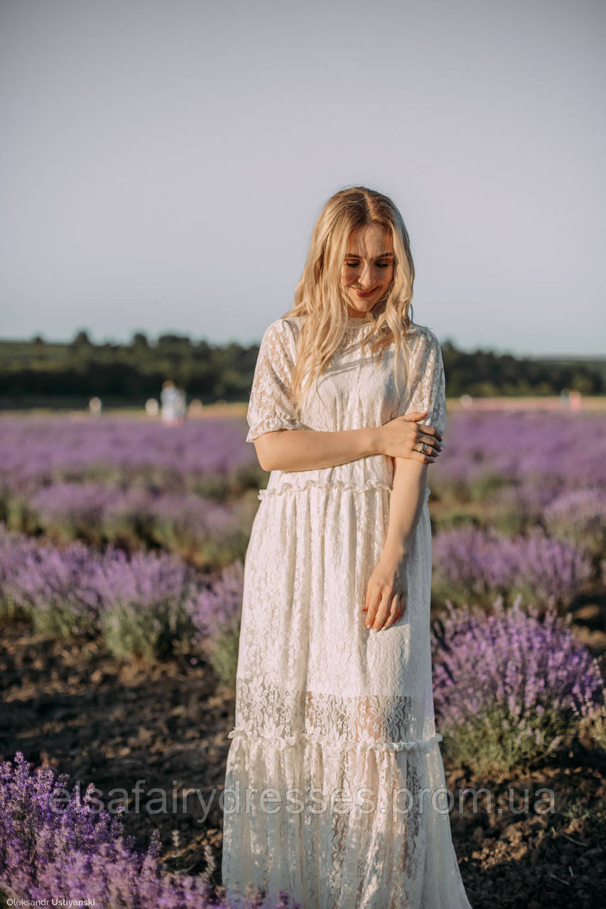
[[[379,361],[362,355],[365,328],[354,318],[348,344],[298,419],[286,390],[301,324],[300,316],[278,319],[263,336],[247,442],[281,428],[382,425],[412,410],[429,411],[425,422],[443,431],[435,335],[411,326],[409,376],[402,353],[398,394],[393,345]],[[224,794],[228,896],[251,882],[304,909],[470,907],[434,725],[427,499],[403,616],[373,633],[361,611],[387,534],[392,481],[391,458],[378,454],[321,470],[275,470],[258,494]]]

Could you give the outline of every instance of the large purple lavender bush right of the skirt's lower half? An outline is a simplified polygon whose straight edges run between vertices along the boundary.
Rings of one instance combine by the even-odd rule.
[[[455,763],[478,774],[538,764],[604,704],[599,662],[569,624],[520,599],[489,615],[447,604],[431,629],[434,706]]]

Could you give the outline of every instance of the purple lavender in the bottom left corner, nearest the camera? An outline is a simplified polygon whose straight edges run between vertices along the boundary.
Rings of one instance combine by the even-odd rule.
[[[80,798],[76,789],[66,792],[67,779],[50,767],[33,770],[22,752],[0,765],[0,891],[6,896],[124,909],[232,909],[222,888],[213,894],[212,865],[196,876],[167,873],[157,831],[146,852],[137,852],[135,837],[126,836],[119,819],[93,796],[94,784]],[[242,905],[298,906],[287,894],[270,904],[252,886]]]

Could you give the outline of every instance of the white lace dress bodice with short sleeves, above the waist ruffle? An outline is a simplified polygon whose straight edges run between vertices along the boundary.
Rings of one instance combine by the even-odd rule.
[[[436,336],[422,325],[409,326],[394,375],[395,345],[371,355],[369,345],[362,346],[369,325],[363,319],[349,318],[343,344],[326,371],[307,389],[297,412],[288,399],[288,388],[303,319],[278,319],[263,335],[247,413],[247,442],[282,428],[339,432],[380,426],[410,411],[427,411],[423,422],[443,432],[441,352]],[[280,494],[309,484],[390,489],[392,482],[392,459],[375,454],[318,470],[272,471],[264,492]]]

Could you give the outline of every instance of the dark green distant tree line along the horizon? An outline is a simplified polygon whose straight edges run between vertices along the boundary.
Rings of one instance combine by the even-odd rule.
[[[518,359],[478,350],[464,353],[442,345],[447,394],[554,395],[564,389],[604,394],[604,364]],[[86,402],[140,405],[159,395],[166,379],[203,404],[247,401],[258,345],[213,345],[184,335],[160,335],[151,343],[137,332],[130,344],[93,344],[78,332],[69,344],[0,341],[0,405]]]

